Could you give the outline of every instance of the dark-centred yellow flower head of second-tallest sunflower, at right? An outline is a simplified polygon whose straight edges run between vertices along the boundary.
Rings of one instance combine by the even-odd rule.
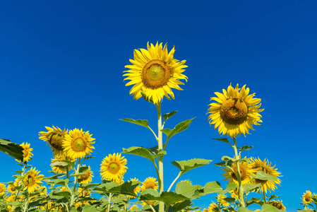
[[[210,98],[215,100],[210,104],[208,120],[215,124],[214,129],[218,127],[218,133],[232,137],[240,134],[249,134],[249,129],[253,129],[253,124],[260,125],[262,122],[261,114],[264,109],[261,107],[261,99],[253,98],[256,93],[249,95],[249,88],[244,85],[241,90],[239,84],[236,88],[228,86],[228,89],[222,89],[223,93],[216,92],[217,97]],[[207,114],[208,114],[207,113]]]

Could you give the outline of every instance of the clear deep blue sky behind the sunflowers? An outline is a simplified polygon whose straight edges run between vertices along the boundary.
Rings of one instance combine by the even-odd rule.
[[[208,104],[229,83],[246,84],[265,108],[263,124],[238,145],[254,146],[244,156],[268,158],[283,177],[275,192],[287,211],[301,208],[306,190],[316,184],[316,1],[2,1],[0,3],[0,138],[28,142],[31,164],[48,176],[52,157],[38,139],[44,126],[83,128],[96,139],[90,166],[100,182],[100,163],[130,146],[155,146],[147,129],[119,119],[148,119],[157,126],[153,105],[133,100],[122,71],[133,49],[147,42],[175,46],[186,59],[183,91],[163,100],[162,112],[179,112],[166,124],[193,119],[189,129],[169,141],[165,182],[177,176],[170,162],[205,158],[208,166],[181,179],[194,184],[221,182],[213,165],[234,152],[214,141]],[[155,177],[146,159],[125,155],[126,179]],[[0,154],[2,182],[19,169]],[[207,207],[213,196],[194,201]]]

